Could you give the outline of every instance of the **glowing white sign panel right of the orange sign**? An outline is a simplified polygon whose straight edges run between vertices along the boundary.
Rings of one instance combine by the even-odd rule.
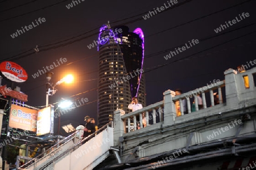
[[[37,130],[36,135],[44,135],[48,133],[53,133],[53,115],[54,109],[49,106],[38,111],[37,117]]]

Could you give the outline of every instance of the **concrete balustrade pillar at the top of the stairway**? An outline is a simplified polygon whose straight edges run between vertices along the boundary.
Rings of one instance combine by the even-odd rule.
[[[125,133],[125,122],[121,120],[123,115],[125,115],[125,111],[122,109],[114,112],[114,146],[119,146],[119,137]]]

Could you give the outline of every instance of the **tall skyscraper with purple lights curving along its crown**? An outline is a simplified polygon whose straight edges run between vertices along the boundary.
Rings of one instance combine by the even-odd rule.
[[[127,26],[110,28],[102,25],[98,36],[99,86],[98,126],[113,119],[114,111],[127,107],[134,96],[146,106],[146,87],[143,73],[144,35],[141,28],[133,32]]]

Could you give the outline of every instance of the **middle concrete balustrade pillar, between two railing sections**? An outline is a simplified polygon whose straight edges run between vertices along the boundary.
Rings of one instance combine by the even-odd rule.
[[[169,126],[174,124],[176,118],[176,108],[172,101],[172,97],[175,96],[175,92],[167,90],[164,95],[164,124],[163,126]]]

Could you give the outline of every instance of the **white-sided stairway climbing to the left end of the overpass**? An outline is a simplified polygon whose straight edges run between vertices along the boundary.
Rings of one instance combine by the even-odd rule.
[[[113,128],[109,126],[105,128],[84,145],[81,145],[81,143],[81,146],[79,143],[74,144],[73,138],[68,139],[67,142],[55,148],[43,158],[35,158],[28,167],[18,169],[93,169],[108,158],[109,150],[114,145]]]

